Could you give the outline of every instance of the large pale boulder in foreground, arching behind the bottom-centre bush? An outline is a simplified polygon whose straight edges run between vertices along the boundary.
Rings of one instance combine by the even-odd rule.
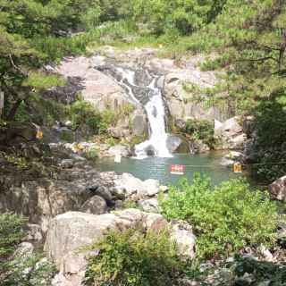
[[[97,255],[84,250],[90,243],[102,240],[108,231],[130,228],[140,231],[171,230],[171,239],[178,243],[182,257],[194,257],[194,236],[191,228],[169,225],[161,214],[147,214],[127,209],[116,214],[84,214],[69,212],[57,215],[49,225],[45,250],[60,273],[54,285],[80,286],[87,266],[87,257]],[[70,284],[69,284],[69,283]]]

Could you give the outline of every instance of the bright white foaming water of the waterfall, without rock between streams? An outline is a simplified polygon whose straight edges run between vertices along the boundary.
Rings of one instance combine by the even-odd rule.
[[[117,68],[122,75],[122,80],[119,81],[129,91],[130,97],[139,100],[135,97],[132,86],[135,85],[135,72],[128,69]],[[135,146],[136,158],[143,159],[150,153],[158,157],[172,157],[167,148],[168,134],[165,126],[165,108],[162,92],[160,88],[156,88],[156,77],[153,77],[151,83],[147,86],[149,88],[149,100],[144,108],[147,113],[148,122],[150,124],[149,139]],[[128,84],[124,82],[126,80]]]

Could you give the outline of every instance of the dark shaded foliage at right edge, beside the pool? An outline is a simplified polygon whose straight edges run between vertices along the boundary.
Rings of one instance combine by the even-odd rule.
[[[286,172],[286,107],[285,94],[262,101],[254,110],[254,139],[248,146],[251,171],[266,183]]]

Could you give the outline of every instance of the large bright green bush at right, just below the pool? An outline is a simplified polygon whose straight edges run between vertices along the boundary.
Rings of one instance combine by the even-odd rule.
[[[197,173],[192,185],[181,181],[160,205],[168,219],[183,219],[193,225],[201,258],[227,257],[247,246],[271,247],[275,241],[274,203],[240,179],[212,187],[209,178]]]

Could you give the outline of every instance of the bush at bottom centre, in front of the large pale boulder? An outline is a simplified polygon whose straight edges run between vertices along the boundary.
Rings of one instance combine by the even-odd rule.
[[[87,285],[173,285],[186,264],[167,233],[110,232],[90,249],[98,255],[88,260]]]

